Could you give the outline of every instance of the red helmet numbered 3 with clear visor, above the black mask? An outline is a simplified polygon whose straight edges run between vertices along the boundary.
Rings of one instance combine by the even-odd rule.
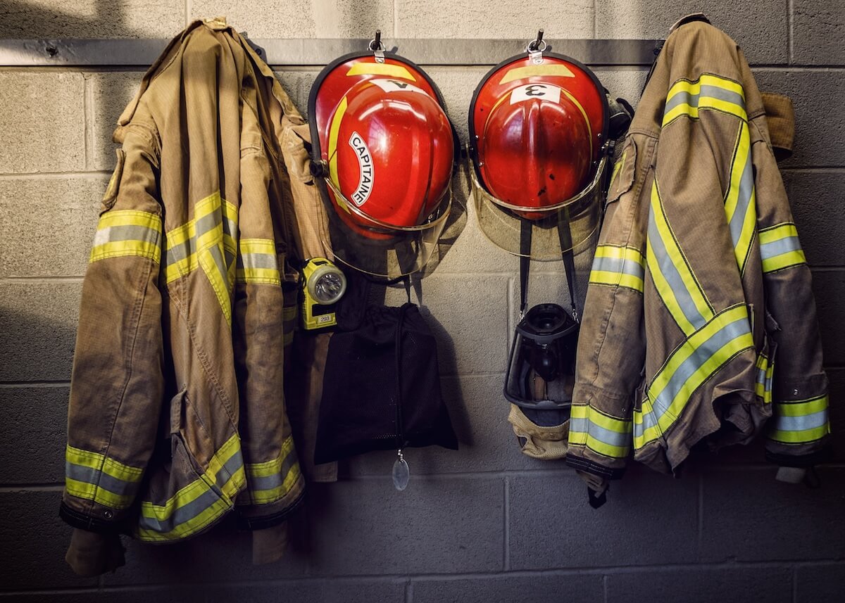
[[[590,69],[551,53],[512,57],[478,84],[469,127],[479,224],[499,247],[524,254],[521,220],[546,231],[536,258],[559,257],[552,226],[568,223],[575,245],[597,230],[608,101]]]

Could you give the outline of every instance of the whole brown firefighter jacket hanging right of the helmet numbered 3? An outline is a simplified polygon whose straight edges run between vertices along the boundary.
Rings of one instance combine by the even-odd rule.
[[[822,458],[827,379],[810,269],[760,92],[728,35],[669,35],[613,168],[581,326],[567,463],[675,470],[766,433]],[[595,481],[593,481],[595,483]]]

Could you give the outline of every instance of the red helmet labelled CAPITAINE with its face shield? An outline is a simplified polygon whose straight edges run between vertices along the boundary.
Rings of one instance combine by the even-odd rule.
[[[455,137],[428,76],[404,58],[379,59],[337,59],[308,102],[330,247],[354,268],[392,277],[423,268],[443,230]]]

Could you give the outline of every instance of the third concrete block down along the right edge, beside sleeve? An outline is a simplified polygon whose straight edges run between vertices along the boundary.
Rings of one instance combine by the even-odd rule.
[[[845,266],[845,177],[841,171],[784,171],[789,202],[810,266]]]

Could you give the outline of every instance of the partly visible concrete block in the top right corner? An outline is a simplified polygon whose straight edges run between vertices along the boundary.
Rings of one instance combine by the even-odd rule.
[[[845,2],[794,0],[792,61],[802,65],[845,62]]]

